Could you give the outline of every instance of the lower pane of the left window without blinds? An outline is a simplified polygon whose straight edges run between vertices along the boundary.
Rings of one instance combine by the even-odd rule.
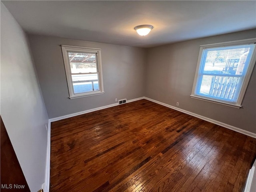
[[[98,91],[98,74],[72,75],[74,94]]]

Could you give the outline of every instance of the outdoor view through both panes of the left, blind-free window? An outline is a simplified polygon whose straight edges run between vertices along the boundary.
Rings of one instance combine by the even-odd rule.
[[[74,94],[99,90],[95,53],[68,52]]]

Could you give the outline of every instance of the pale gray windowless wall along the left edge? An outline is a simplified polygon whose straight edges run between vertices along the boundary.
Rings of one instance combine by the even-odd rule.
[[[48,116],[26,34],[2,2],[1,116],[28,186],[37,191],[44,183]]]

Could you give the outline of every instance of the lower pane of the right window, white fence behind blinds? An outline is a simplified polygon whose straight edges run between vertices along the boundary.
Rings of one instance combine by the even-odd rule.
[[[203,75],[199,94],[209,98],[235,101],[240,87],[241,77]]]

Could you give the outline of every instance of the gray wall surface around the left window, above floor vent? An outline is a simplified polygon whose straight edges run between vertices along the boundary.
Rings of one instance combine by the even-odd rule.
[[[55,118],[144,96],[146,51],[142,48],[72,40],[50,36],[29,36],[49,118]],[[70,100],[60,45],[102,49],[104,94]]]

